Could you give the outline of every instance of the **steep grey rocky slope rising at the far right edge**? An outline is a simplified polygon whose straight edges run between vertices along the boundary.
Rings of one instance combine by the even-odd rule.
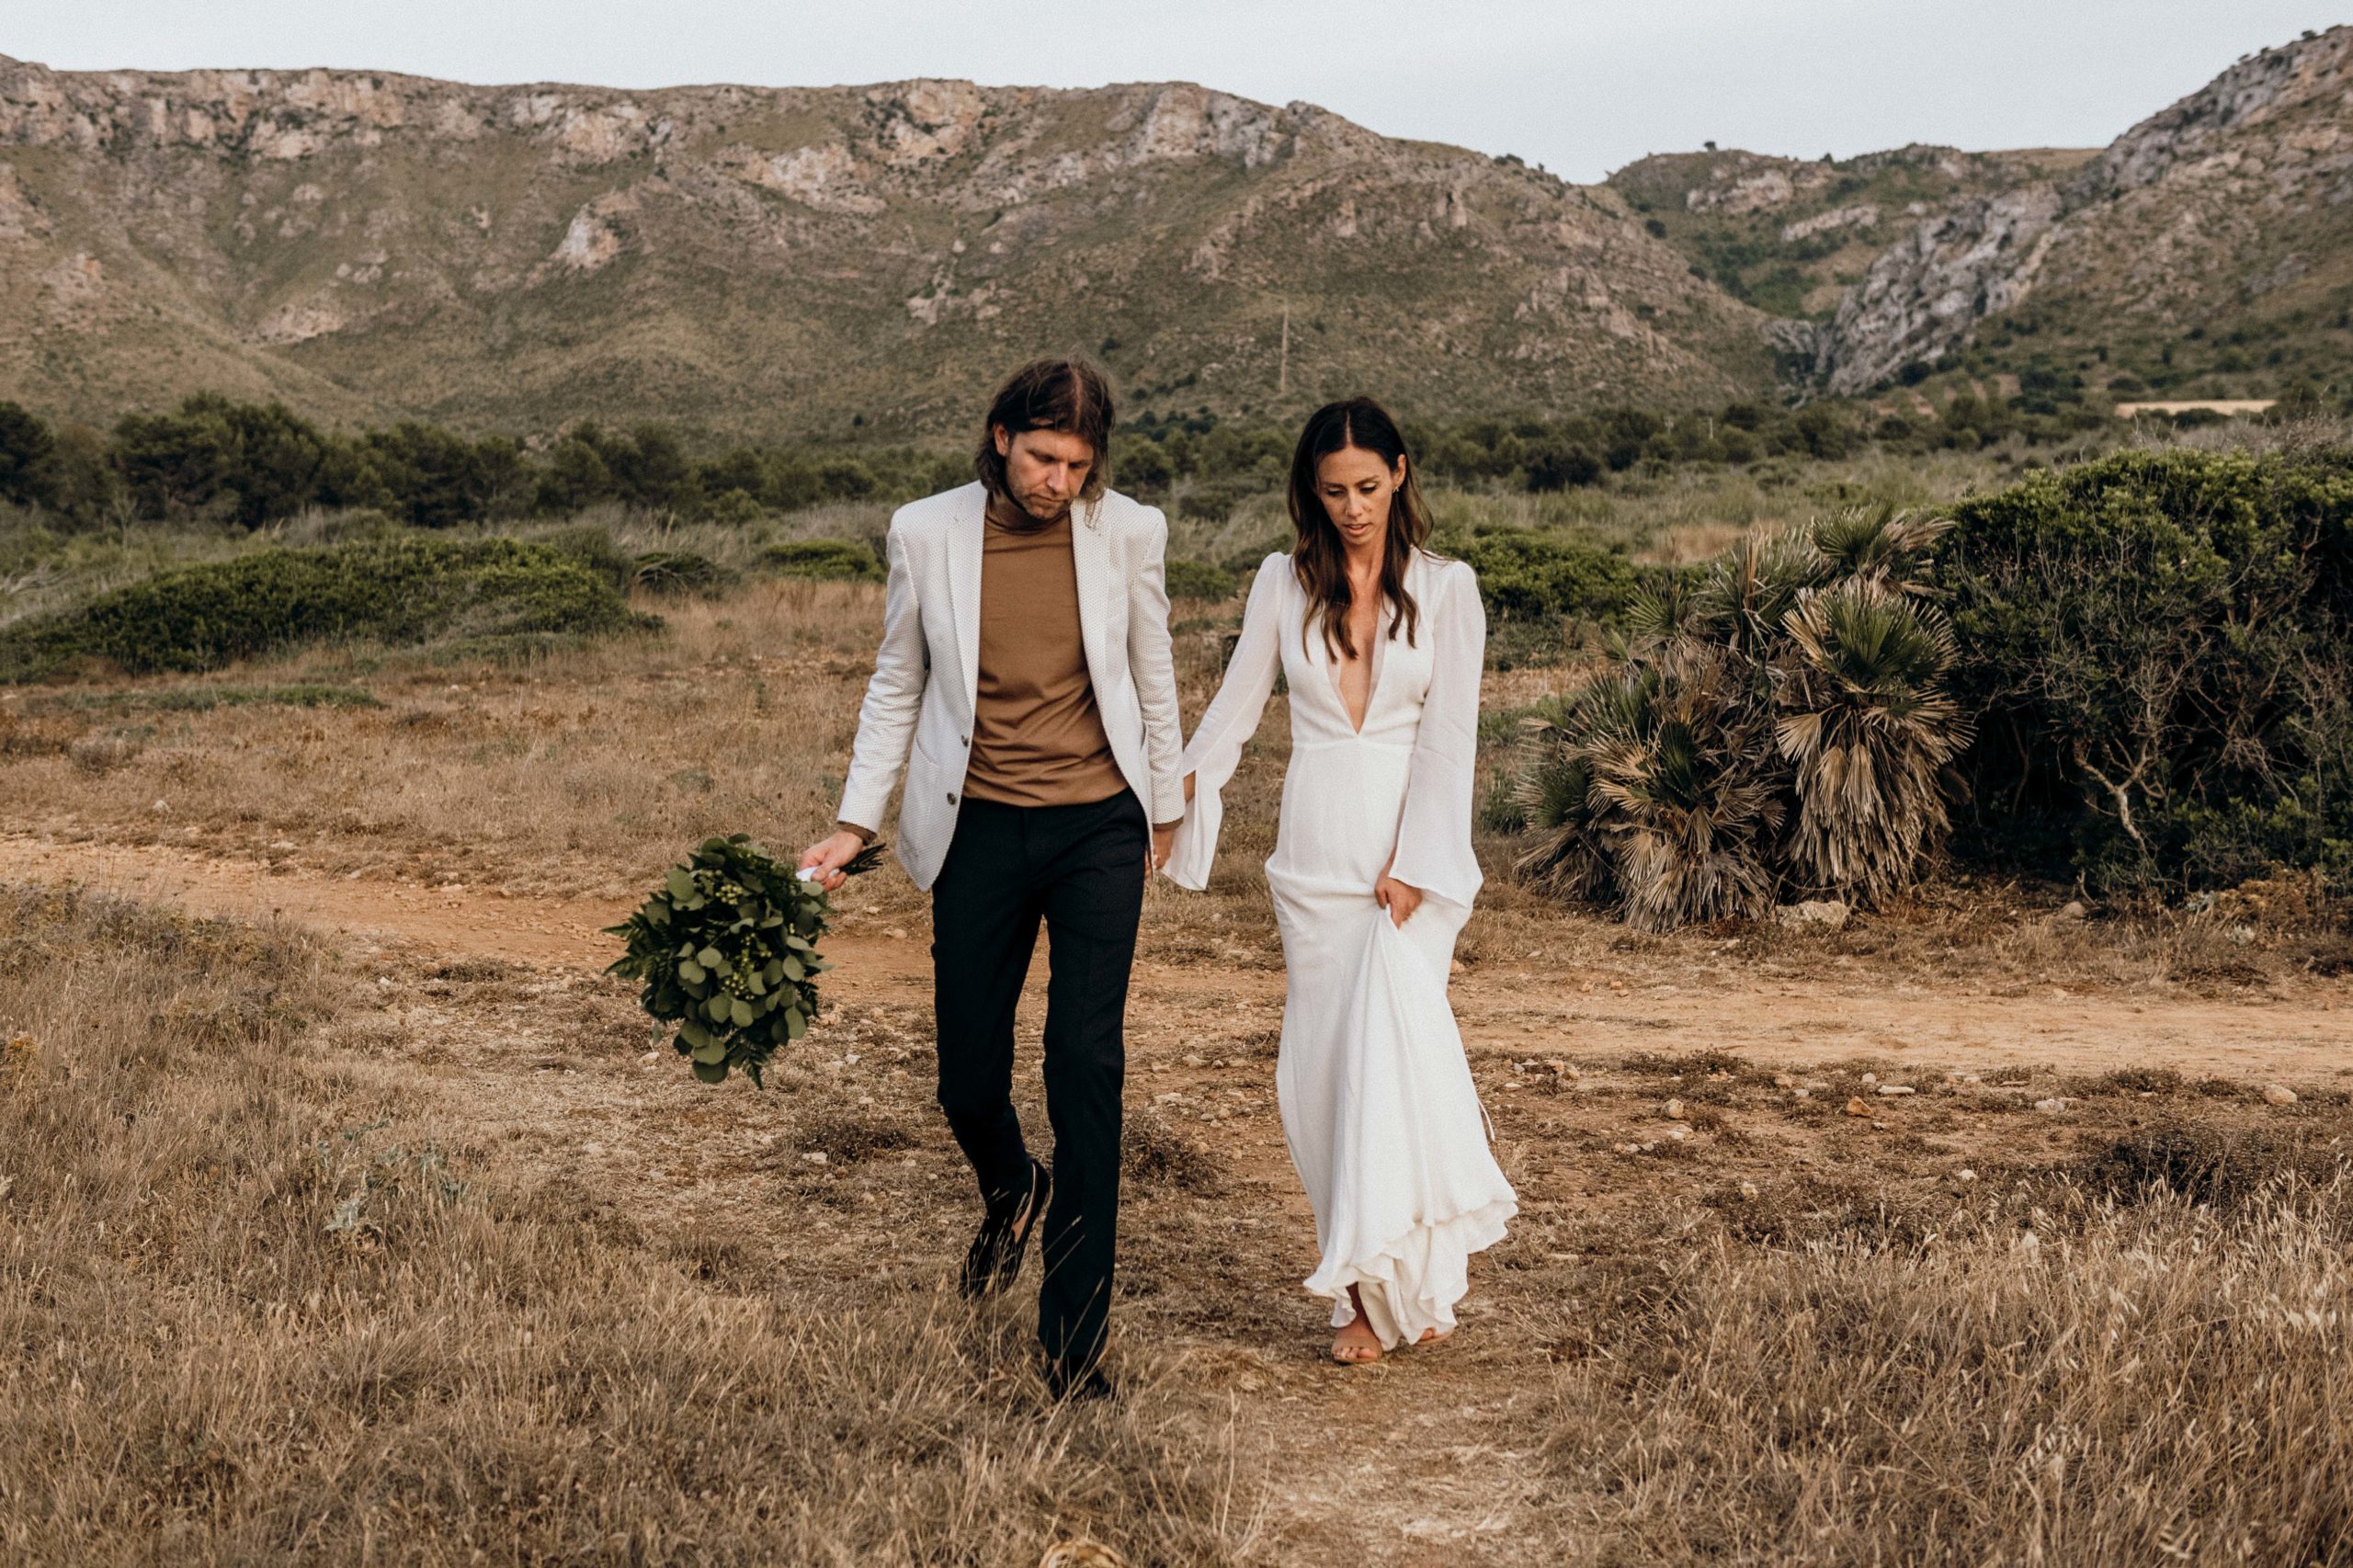
[[[2273,396],[2353,365],[2353,26],[2264,49],[2059,179],[1901,233],[1814,334],[1831,391],[1984,341],[2115,391]]]

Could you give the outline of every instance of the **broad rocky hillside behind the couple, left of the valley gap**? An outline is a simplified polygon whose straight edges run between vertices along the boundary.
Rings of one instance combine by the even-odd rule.
[[[0,398],[66,417],[939,431],[1061,348],[1167,412],[1701,403],[1769,384],[1762,325],[1609,191],[1191,85],[0,59]]]

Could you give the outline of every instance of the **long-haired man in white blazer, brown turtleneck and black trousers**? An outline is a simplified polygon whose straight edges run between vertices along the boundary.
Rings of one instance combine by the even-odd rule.
[[[1056,1398],[1108,1391],[1127,975],[1144,883],[1184,817],[1167,523],[1104,487],[1111,419],[1096,367],[1026,365],[988,410],[979,483],[892,516],[838,831],[800,857],[838,888],[906,768],[899,859],[932,892],[939,1104],[981,1184],[962,1288],[1007,1285],[1042,1210],[1038,1342]],[[1040,921],[1052,1170],[1012,1104]]]

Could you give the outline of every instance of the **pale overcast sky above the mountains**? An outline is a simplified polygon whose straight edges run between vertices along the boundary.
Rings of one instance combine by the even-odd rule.
[[[2339,21],[2353,0],[7,0],[0,54],[614,87],[1176,78],[1588,181],[1711,139],[2099,146]]]

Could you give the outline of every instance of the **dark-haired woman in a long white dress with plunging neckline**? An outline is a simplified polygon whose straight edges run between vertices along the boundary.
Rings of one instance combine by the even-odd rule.
[[[1289,483],[1297,549],[1268,556],[1217,702],[1186,746],[1169,876],[1209,881],[1219,791],[1289,683],[1292,760],[1266,883],[1287,970],[1275,1088],[1315,1205],[1334,1361],[1454,1328],[1471,1253],[1518,1212],[1447,1008],[1471,855],[1478,579],[1424,549],[1428,511],[1395,421],[1318,410]]]

